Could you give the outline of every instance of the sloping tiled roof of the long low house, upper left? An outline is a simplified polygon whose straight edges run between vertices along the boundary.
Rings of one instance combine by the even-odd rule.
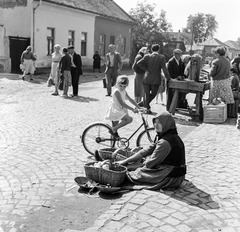
[[[102,17],[134,23],[134,20],[113,0],[43,0],[57,5],[75,8]]]

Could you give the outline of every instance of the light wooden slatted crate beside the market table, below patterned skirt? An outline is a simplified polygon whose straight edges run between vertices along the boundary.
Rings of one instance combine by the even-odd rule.
[[[224,123],[227,120],[227,105],[203,106],[203,122]]]

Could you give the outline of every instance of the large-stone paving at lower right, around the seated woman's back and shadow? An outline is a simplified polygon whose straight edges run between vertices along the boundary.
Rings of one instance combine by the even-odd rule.
[[[85,231],[240,231],[240,130],[235,120],[203,124],[184,142],[188,174],[179,190],[126,194]]]

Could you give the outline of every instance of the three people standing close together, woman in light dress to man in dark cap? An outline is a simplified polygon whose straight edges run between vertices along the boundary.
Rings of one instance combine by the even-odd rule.
[[[82,59],[79,54],[74,51],[74,46],[64,47],[62,52],[59,44],[54,46],[52,53],[51,72],[48,83],[52,82],[55,91],[52,95],[59,95],[58,90],[63,90],[63,97],[68,97],[69,86],[72,86],[71,97],[78,97],[78,85],[80,75],[82,75]],[[59,88],[60,83],[62,88]]]

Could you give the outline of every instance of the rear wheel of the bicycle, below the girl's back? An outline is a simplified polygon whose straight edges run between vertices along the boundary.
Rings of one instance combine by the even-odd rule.
[[[110,127],[104,123],[93,123],[82,133],[81,140],[85,150],[94,155],[96,150],[114,147],[115,140],[109,134]]]

